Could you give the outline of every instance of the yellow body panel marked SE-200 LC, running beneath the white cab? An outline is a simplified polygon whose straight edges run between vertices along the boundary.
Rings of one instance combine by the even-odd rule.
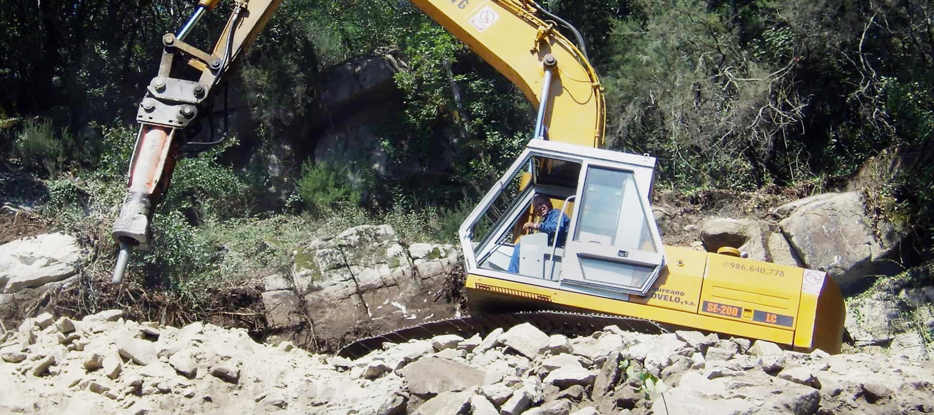
[[[823,294],[814,295],[801,290],[803,273],[811,270],[684,247],[665,246],[665,252],[671,262],[649,294],[629,300],[476,274],[468,274],[466,288],[469,301],[481,309],[484,303],[531,300],[539,308],[624,315],[678,329],[764,339],[800,351],[840,353],[842,328],[827,333],[817,329],[842,327],[840,290],[830,278],[821,282]],[[762,275],[767,272],[776,272],[774,278]],[[821,305],[828,312],[818,313]]]

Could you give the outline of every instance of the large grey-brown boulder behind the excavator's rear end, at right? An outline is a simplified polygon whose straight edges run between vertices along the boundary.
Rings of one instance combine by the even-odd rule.
[[[844,293],[865,288],[874,276],[901,271],[898,233],[867,214],[860,193],[817,195],[794,203],[779,224],[782,231],[804,266],[827,271]]]

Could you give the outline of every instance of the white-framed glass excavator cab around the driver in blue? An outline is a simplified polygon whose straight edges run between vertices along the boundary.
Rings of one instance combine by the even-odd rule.
[[[644,296],[665,264],[649,207],[655,162],[532,140],[460,228],[468,271],[601,297]],[[570,218],[558,238],[519,234],[534,195]],[[513,256],[517,272],[508,271]]]

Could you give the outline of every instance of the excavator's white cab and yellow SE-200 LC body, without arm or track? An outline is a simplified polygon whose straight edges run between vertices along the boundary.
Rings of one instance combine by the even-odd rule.
[[[662,244],[655,163],[531,140],[460,226],[471,313],[596,311],[839,353],[843,302],[825,272]],[[535,195],[568,216],[565,236],[523,234]]]

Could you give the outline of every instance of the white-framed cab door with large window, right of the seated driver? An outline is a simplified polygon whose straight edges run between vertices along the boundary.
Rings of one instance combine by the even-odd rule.
[[[561,284],[644,296],[665,264],[648,202],[653,166],[585,161]]]

